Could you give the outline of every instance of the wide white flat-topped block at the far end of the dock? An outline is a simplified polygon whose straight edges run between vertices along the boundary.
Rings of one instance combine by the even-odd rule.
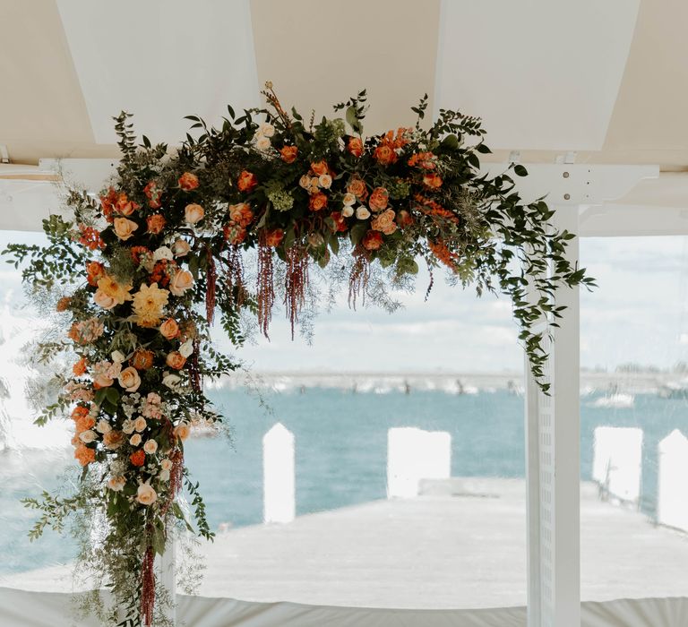
[[[421,479],[451,475],[451,434],[412,426],[387,432],[387,498],[412,498],[418,495]]]

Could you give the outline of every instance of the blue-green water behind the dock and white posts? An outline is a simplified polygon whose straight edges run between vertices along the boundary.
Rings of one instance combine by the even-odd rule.
[[[467,396],[332,389],[266,393],[271,413],[245,391],[210,395],[232,427],[233,442],[194,439],[187,444],[186,461],[201,482],[212,528],[262,520],[262,436],[278,420],[296,436],[298,514],[384,498],[387,430],[393,426],[450,432],[453,476],[524,476],[523,399],[506,391]],[[593,400],[581,399],[581,478],[590,477],[596,426],[640,426],[645,434],[642,509],[651,517],[657,444],[675,428],[688,434],[688,404],[638,395],[634,408],[595,408]],[[26,532],[33,517],[18,504],[22,496],[55,488],[68,457],[27,453],[20,460],[0,454],[0,464],[0,574],[72,559],[71,541],[50,531],[29,543]]]

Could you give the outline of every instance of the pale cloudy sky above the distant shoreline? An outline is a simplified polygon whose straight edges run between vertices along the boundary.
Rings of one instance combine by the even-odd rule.
[[[5,231],[10,242],[41,236]],[[688,361],[688,237],[617,237],[581,240],[581,265],[598,288],[581,293],[581,365],[613,371],[636,362],[668,368]],[[255,372],[477,372],[520,371],[508,298],[463,291],[435,279],[424,301],[427,275],[413,294],[399,294],[403,308],[352,311],[344,299],[318,316],[312,344],[292,341],[283,312],[273,315],[271,339],[255,337],[235,355]],[[0,264],[0,302],[21,298],[19,273]],[[221,348],[232,351],[222,331]],[[234,351],[232,351],[234,352]]]

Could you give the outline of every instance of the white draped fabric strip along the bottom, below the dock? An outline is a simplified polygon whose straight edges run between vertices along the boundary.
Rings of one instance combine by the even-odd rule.
[[[0,588],[3,627],[100,627],[70,618],[64,593]],[[250,603],[230,598],[177,596],[177,623],[190,627],[525,627],[524,607],[478,610],[395,610]],[[583,603],[581,627],[685,627],[688,598],[621,599]]]

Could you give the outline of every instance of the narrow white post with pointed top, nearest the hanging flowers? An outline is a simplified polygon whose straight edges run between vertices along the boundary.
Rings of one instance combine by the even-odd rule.
[[[263,514],[265,523],[286,523],[296,516],[294,434],[281,423],[262,438]]]

